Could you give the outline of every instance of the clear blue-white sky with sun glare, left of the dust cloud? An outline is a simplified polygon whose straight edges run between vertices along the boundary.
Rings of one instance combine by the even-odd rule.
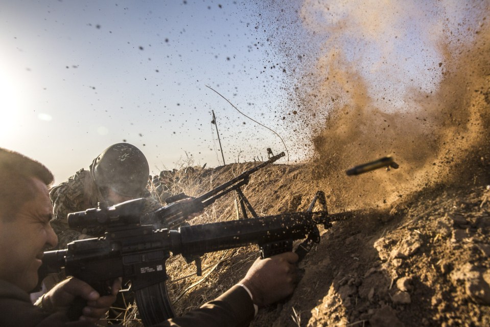
[[[106,147],[140,148],[150,171],[284,151],[281,60],[253,4],[216,1],[3,1],[0,140],[59,183]],[[190,156],[188,158],[188,156]]]

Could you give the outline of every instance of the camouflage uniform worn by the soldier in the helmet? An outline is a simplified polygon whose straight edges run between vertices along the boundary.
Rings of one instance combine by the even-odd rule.
[[[50,198],[53,203],[53,226],[56,235],[58,235],[58,248],[64,249],[70,242],[77,239],[84,239],[94,236],[101,236],[101,229],[83,230],[78,232],[68,227],[68,213],[84,211],[89,208],[97,207],[101,202],[99,191],[92,181],[90,171],[80,169],[77,173],[68,178],[67,181],[50,190]],[[146,198],[145,208],[142,212],[142,224],[153,224],[155,228],[164,228],[165,224],[155,221],[149,221],[146,213],[155,211],[161,207],[160,202],[150,195],[148,190],[142,195]]]

